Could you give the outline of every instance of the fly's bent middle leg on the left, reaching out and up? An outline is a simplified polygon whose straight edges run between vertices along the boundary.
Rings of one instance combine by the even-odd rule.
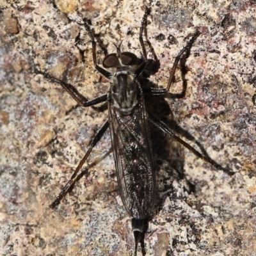
[[[77,91],[77,89],[72,86],[72,84],[69,84],[69,83],[66,83],[64,81],[60,81],[52,76],[50,76],[49,74],[45,73],[45,72],[42,72],[38,69],[35,69],[34,72],[36,74],[40,74],[40,75],[43,75],[45,78],[49,79],[51,82],[53,83],[58,83],[60,84],[63,89],[68,92],[71,97],[76,100],[76,102],[82,106],[82,107],[89,107],[89,106],[94,106],[95,104],[99,104],[101,102],[105,102],[108,98],[108,95],[107,94],[104,94],[100,97],[97,97],[96,99],[93,99],[93,100],[88,100],[86,99],[86,97],[84,97],[83,95],[81,95],[81,93],[79,93]]]

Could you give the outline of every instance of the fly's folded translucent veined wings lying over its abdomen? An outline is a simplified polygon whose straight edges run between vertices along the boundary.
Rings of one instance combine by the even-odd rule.
[[[109,124],[122,201],[133,218],[146,218],[154,207],[156,178],[143,99],[131,115],[120,115],[109,104]]]

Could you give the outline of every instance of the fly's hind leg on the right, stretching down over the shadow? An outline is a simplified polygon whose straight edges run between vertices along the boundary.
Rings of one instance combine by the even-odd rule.
[[[163,131],[165,134],[167,134],[168,136],[172,137],[173,139],[177,140],[180,144],[182,144],[184,147],[188,148],[188,150],[190,150],[193,154],[195,154],[195,156],[199,157],[200,159],[202,159],[203,161],[205,161],[206,163],[211,164],[212,166],[214,166],[216,169],[218,170],[222,170],[223,172],[227,172],[229,175],[234,174],[233,172],[231,172],[230,170],[228,170],[227,168],[223,168],[220,164],[216,163],[215,161],[213,161],[211,158],[203,156],[200,152],[198,152],[197,150],[195,150],[195,148],[191,147],[191,145],[189,145],[188,143],[186,143],[186,141],[180,139],[177,135],[175,135],[170,128],[164,124],[164,122],[162,122],[161,120],[157,119],[155,116],[153,116],[152,114],[148,113],[149,116],[149,121],[154,124],[158,129],[160,129],[161,131]]]

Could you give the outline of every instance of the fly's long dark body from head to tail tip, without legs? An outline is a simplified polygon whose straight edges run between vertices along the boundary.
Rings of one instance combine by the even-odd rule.
[[[152,216],[157,191],[143,90],[136,79],[140,75],[136,74],[140,66],[135,69],[127,65],[123,67],[124,54],[131,57],[128,65],[138,63],[137,57],[130,52],[118,52],[104,61],[108,58],[116,60],[116,72],[108,95],[109,124],[118,185],[125,209],[133,218],[137,250],[144,220]],[[104,61],[103,66],[106,66]]]

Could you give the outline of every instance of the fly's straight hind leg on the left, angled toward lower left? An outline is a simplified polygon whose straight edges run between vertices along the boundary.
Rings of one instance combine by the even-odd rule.
[[[76,182],[77,173],[79,172],[79,170],[81,170],[86,159],[88,158],[88,156],[90,156],[90,153],[92,152],[93,147],[95,147],[95,145],[100,141],[100,139],[102,138],[104,133],[107,131],[108,127],[109,127],[109,122],[107,120],[105,122],[105,124],[102,125],[100,130],[97,132],[95,138],[93,138],[93,140],[90,144],[90,147],[88,148],[88,150],[87,150],[86,154],[84,155],[83,159],[81,160],[81,162],[78,164],[78,166],[77,166],[75,172],[72,174],[70,180],[68,180],[66,186],[62,189],[61,193],[57,196],[57,198],[54,200],[54,202],[52,202],[52,204],[50,205],[51,208],[54,208],[54,207],[56,207],[56,205],[60,204],[60,200],[63,198],[63,196],[65,196],[67,194],[68,189],[70,189],[70,187],[73,186],[73,184]]]

